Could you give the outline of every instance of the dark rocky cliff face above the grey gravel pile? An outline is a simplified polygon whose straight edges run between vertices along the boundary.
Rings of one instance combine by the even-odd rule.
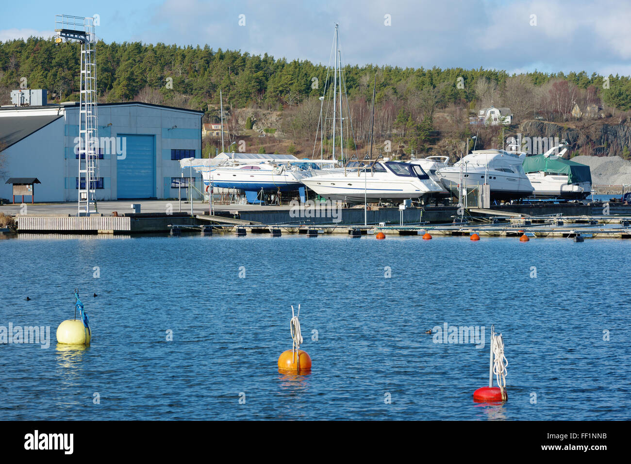
[[[558,137],[565,139],[573,153],[596,156],[620,156],[631,149],[631,125],[580,122],[575,127],[527,120],[519,125],[522,137]]]

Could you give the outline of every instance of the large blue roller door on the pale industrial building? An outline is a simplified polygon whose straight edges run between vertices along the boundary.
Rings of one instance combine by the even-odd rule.
[[[126,137],[127,156],[116,160],[117,197],[155,197],[155,136],[118,136]]]

